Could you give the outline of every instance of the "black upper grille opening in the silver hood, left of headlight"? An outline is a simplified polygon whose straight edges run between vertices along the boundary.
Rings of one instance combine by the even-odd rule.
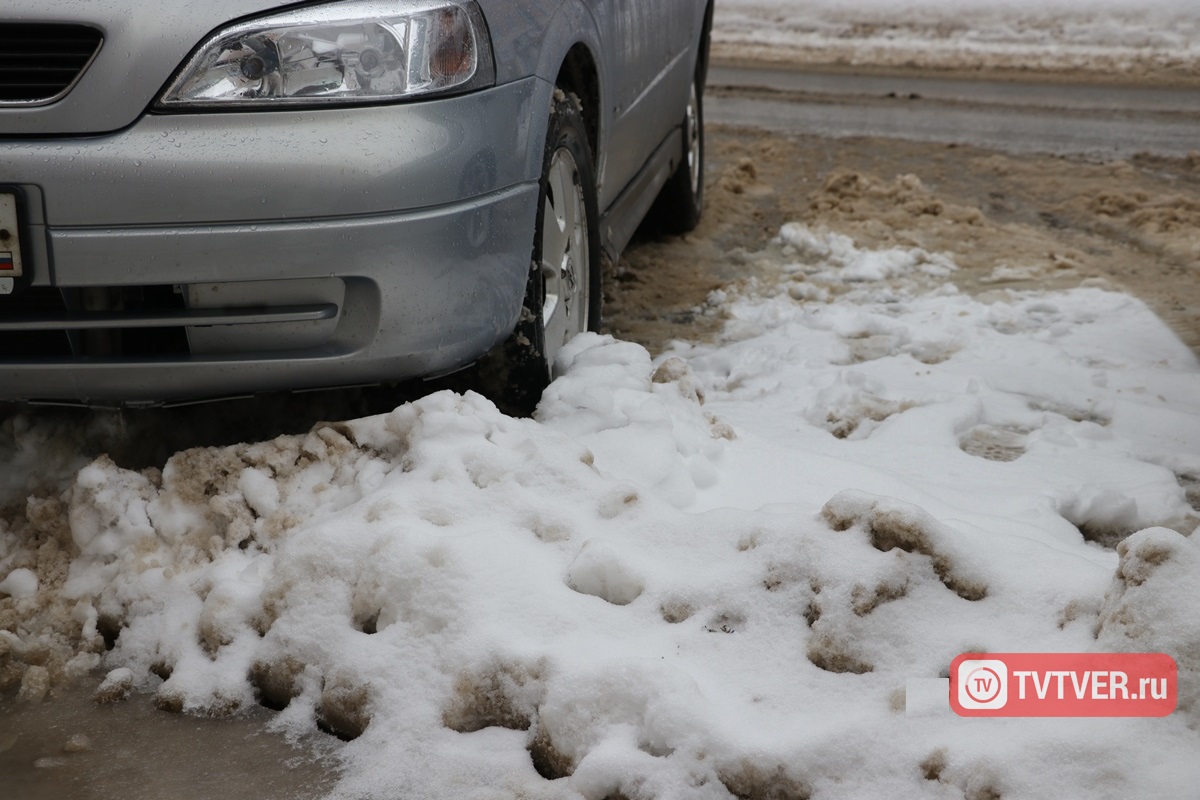
[[[85,25],[0,24],[0,103],[48,103],[65,95],[100,50]]]

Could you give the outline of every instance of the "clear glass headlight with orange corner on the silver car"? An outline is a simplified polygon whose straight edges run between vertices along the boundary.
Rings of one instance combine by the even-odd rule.
[[[161,108],[386,102],[492,85],[474,0],[311,6],[228,28],[197,50]]]

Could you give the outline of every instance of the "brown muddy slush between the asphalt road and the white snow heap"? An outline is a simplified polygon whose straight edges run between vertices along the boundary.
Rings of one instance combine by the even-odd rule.
[[[792,221],[864,247],[919,247],[983,300],[1099,287],[1146,302],[1200,354],[1200,151],[1188,158],[1012,155],[880,138],[709,128],[708,212],[644,236],[606,289],[608,330],[658,353],[710,337],[709,293],[739,287]]]

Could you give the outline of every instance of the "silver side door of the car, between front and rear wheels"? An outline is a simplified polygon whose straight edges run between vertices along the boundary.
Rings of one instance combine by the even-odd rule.
[[[600,207],[607,209],[683,119],[691,79],[697,0],[593,0],[605,37],[611,114],[601,154]]]

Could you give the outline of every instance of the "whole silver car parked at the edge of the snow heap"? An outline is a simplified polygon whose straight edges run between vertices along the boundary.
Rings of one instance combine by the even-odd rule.
[[[535,398],[602,261],[649,212],[700,217],[710,24],[712,0],[6,0],[0,399],[490,350]]]

